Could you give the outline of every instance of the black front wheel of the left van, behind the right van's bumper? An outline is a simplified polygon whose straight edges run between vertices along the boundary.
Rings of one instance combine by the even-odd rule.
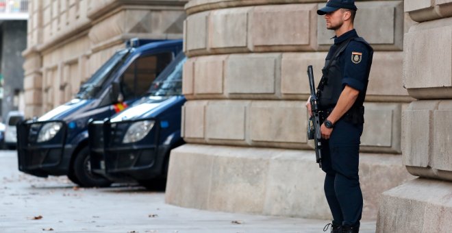
[[[73,167],[75,178],[81,187],[108,187],[112,182],[91,172],[90,151],[84,147],[77,153]]]

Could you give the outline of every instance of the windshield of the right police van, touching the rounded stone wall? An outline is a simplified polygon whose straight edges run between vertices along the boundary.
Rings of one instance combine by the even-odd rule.
[[[151,84],[151,88],[148,91],[149,95],[182,95],[182,71],[186,60],[184,53],[179,53],[173,63],[166,67]]]

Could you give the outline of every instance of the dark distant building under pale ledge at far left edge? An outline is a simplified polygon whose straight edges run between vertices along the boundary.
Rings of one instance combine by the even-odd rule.
[[[27,21],[4,21],[1,24],[1,74],[3,75],[3,101],[1,117],[18,110],[23,92],[23,64],[21,52],[27,46]]]

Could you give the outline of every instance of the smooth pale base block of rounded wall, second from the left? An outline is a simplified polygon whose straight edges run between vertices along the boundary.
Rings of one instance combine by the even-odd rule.
[[[264,152],[262,149],[260,151]],[[225,154],[225,150],[221,152],[223,153],[214,158],[212,173],[208,175],[211,177],[209,208],[228,212],[261,213],[264,208],[271,151],[256,154],[252,150],[240,150],[240,153],[230,156]]]

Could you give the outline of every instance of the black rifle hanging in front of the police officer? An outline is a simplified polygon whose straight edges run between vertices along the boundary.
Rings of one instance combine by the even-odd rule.
[[[314,87],[314,74],[312,73],[312,66],[307,66],[307,77],[309,78],[309,86],[311,89],[311,110],[312,116],[307,121],[307,139],[314,139],[316,149],[316,162],[318,167],[322,168],[322,136],[320,132],[320,110],[318,110],[318,99],[316,95],[316,88]]]

